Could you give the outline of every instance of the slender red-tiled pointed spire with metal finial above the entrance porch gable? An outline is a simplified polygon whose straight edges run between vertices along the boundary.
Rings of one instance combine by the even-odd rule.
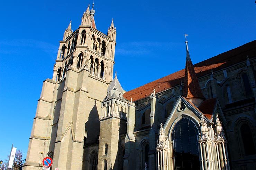
[[[188,36],[185,34],[185,38]],[[193,66],[193,63],[191,61],[190,55],[189,55],[189,48],[188,48],[188,41],[186,39],[186,68],[185,68],[185,81],[184,81],[184,92],[183,96],[187,99],[191,99],[191,101],[199,106],[201,101],[204,100],[204,96],[202,94],[202,91],[199,86],[198,79],[196,77],[195,69]],[[199,100],[192,100],[192,99],[201,99]]]

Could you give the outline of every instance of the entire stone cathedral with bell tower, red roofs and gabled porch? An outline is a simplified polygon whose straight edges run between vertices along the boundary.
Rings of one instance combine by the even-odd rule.
[[[256,40],[195,65],[185,41],[185,69],[126,92],[114,22],[104,34],[94,15],[64,32],[24,170],[256,169]]]

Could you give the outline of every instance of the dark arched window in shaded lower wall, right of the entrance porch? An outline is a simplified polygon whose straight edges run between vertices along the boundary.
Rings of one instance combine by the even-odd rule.
[[[243,140],[243,146],[244,146],[244,151],[245,155],[253,155],[256,154],[255,152],[255,146],[254,146],[254,140],[252,136],[252,131],[248,124],[243,124],[240,128],[241,131],[241,137]]]

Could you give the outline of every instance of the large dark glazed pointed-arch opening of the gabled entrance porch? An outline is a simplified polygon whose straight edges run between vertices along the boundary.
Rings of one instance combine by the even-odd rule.
[[[191,120],[182,118],[176,123],[172,132],[175,170],[200,169],[198,134]]]

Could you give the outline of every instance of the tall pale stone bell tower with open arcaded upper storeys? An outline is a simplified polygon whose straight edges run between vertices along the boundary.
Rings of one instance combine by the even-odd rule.
[[[98,142],[101,102],[113,79],[116,28],[112,20],[108,33],[100,32],[94,16],[94,4],[91,10],[88,5],[79,28],[73,31],[70,22],[64,32],[53,77],[43,82],[24,170],[42,169],[46,156],[53,158],[52,169],[81,170],[84,147]]]

